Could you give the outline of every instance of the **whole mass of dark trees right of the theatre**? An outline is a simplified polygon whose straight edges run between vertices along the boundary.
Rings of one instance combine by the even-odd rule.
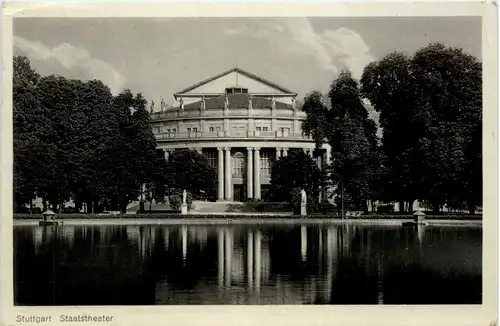
[[[382,137],[367,103],[379,113]],[[304,99],[304,131],[334,153],[326,181],[354,206],[424,201],[473,213],[482,205],[482,65],[462,49],[430,44],[343,71],[330,91]]]

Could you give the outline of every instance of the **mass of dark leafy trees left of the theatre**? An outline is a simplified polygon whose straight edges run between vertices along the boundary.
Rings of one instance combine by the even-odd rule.
[[[157,151],[141,94],[113,96],[97,80],[41,77],[22,56],[13,68],[15,210],[37,197],[43,210],[61,211],[71,199],[88,212],[124,212],[150,190],[158,197],[191,187],[195,196],[213,196],[206,158],[184,151],[168,163]],[[207,182],[193,182],[200,173]]]

